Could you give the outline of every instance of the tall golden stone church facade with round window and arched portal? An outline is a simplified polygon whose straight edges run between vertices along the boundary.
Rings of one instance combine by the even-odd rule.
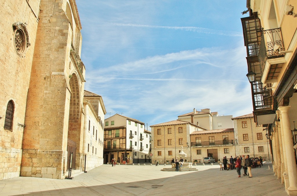
[[[72,168],[83,162],[85,66],[75,0],[0,7],[0,179],[63,179],[70,154]]]

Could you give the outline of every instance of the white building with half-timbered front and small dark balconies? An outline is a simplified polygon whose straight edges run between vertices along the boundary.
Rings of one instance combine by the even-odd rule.
[[[151,134],[145,124],[120,114],[105,119],[104,163],[149,163]]]

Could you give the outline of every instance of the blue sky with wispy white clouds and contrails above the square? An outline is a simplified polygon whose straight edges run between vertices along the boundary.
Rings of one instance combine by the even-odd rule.
[[[76,3],[85,89],[102,96],[105,118],[119,113],[150,126],[193,108],[252,113],[240,20],[246,1]]]

